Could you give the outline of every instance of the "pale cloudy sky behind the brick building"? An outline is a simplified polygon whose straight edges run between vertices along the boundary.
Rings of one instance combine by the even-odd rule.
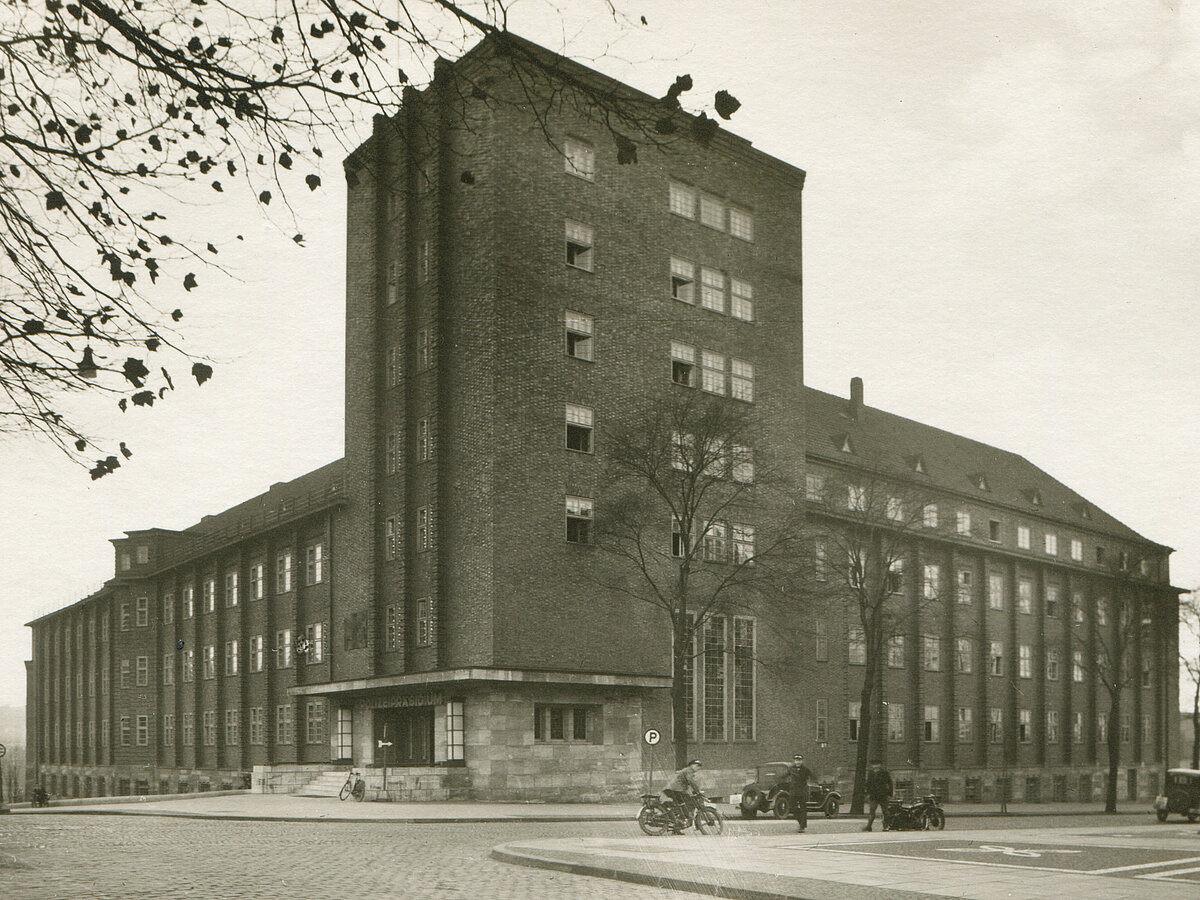
[[[1200,586],[1194,6],[614,4],[517,0],[508,22],[650,94],[685,72],[695,96],[728,90],[728,127],[808,172],[810,386],[846,395],[859,376],[868,406],[1021,454]],[[342,455],[344,181],[326,162],[295,228],[179,197],[176,221],[223,217],[246,240],[227,276],[161,299],[186,304],[209,384],[119,420],[78,401],[133,450],[118,473],[0,438],[0,704],[25,698],[24,623],[110,577],[109,539]]]

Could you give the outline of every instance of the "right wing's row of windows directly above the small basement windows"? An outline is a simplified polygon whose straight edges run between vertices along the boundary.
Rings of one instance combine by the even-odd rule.
[[[828,740],[829,734],[829,702],[827,700],[816,701],[816,738]],[[846,716],[846,738],[857,742],[859,738],[863,704],[851,702]],[[941,743],[942,724],[941,707],[923,707],[923,719],[920,726],[920,739],[928,744]],[[1045,713],[1045,743],[1057,744],[1058,736],[1058,710],[1048,709]],[[887,728],[889,742],[905,740],[905,707],[899,703],[890,703],[887,707]],[[1072,743],[1084,743],[1084,714],[1072,715]],[[1096,716],[1096,740],[1103,743],[1108,740],[1109,716],[1106,713],[1098,713]],[[955,707],[954,733],[958,743],[973,744],[976,742],[974,708]],[[992,744],[1001,744],[1004,740],[1004,710],[1001,707],[991,707],[988,710],[988,740]],[[1121,714],[1121,743],[1129,743],[1133,739],[1133,716],[1129,713]],[[1153,739],[1153,720],[1148,715],[1141,716],[1141,740],[1148,744]],[[1033,712],[1030,709],[1016,710],[1016,740],[1021,744],[1033,742]]]

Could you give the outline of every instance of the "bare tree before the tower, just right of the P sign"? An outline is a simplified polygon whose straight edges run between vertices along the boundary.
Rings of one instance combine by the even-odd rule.
[[[787,595],[800,515],[786,473],[738,401],[698,392],[661,401],[608,436],[606,454],[611,499],[596,518],[598,542],[619,564],[594,578],[654,606],[671,625],[671,715],[682,768],[696,647],[714,617],[762,611]],[[749,647],[737,653],[738,662],[755,664]]]

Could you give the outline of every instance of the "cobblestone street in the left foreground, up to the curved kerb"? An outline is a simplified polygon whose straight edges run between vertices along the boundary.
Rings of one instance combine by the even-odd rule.
[[[508,865],[492,846],[634,835],[625,823],[341,824],[137,816],[0,818],[0,896],[89,898],[695,898]]]

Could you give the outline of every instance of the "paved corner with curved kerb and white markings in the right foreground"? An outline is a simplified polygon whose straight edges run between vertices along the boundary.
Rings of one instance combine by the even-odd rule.
[[[492,857],[738,900],[1195,900],[1195,826],[719,838],[578,838],[505,844]],[[740,832],[740,833],[739,833]],[[1129,862],[1134,860],[1134,862]]]

